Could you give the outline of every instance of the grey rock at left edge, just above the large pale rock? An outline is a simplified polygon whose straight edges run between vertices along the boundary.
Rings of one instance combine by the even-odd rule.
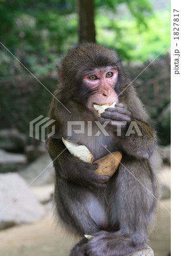
[[[26,156],[0,150],[0,172],[16,171],[26,163]]]

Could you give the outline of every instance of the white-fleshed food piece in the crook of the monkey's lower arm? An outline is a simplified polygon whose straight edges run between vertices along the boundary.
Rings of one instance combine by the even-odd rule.
[[[84,145],[79,145],[74,142],[70,142],[62,137],[62,142],[64,142],[66,148],[71,154],[77,156],[83,162],[92,163],[94,161],[94,156],[91,154],[89,149]]]

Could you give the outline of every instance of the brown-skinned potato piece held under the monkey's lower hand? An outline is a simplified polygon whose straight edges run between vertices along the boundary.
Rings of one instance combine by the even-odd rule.
[[[95,162],[93,162],[93,164],[99,164],[98,168],[95,170],[96,174],[112,176],[117,171],[122,157],[123,155],[121,154],[121,152],[116,151],[96,160]]]

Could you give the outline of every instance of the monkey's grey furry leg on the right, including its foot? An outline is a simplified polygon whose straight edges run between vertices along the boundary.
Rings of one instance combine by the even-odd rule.
[[[154,175],[146,160],[124,157],[113,183],[108,204],[111,222],[119,222],[117,232],[99,232],[87,243],[87,254],[123,256],[144,247],[154,218]]]

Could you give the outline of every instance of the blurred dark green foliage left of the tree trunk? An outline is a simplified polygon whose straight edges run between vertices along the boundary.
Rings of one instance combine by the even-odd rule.
[[[1,42],[37,75],[54,69],[54,60],[77,43],[74,1],[1,0]],[[59,9],[58,9],[59,8]],[[2,48],[0,75],[23,73]]]

